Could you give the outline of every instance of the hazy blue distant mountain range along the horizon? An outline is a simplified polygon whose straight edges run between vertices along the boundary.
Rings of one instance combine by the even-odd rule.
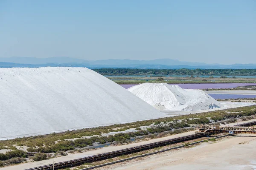
[[[5,57],[0,58],[0,67],[87,67],[87,68],[233,68],[249,69],[256,68],[256,64],[206,64],[203,62],[183,62],[176,59],[154,59],[154,60],[130,60],[130,59],[105,59],[105,60],[84,60],[70,57]]]

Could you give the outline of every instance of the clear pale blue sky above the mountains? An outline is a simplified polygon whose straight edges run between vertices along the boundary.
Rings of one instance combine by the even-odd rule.
[[[0,57],[256,63],[256,1],[0,0]]]

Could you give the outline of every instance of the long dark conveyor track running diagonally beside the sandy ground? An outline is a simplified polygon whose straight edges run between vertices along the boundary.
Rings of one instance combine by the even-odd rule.
[[[256,121],[239,124],[239,126],[250,126],[250,125],[256,125]],[[193,135],[188,135],[188,136],[182,136],[182,137],[179,137],[179,138],[164,140],[164,141],[160,141],[160,142],[144,144],[144,145],[140,145],[140,146],[137,146],[137,147],[130,147],[130,148],[122,149],[122,150],[116,150],[116,151],[113,151],[113,152],[88,156],[88,157],[84,157],[84,158],[80,158],[80,159],[73,159],[73,160],[70,160],[70,161],[58,162],[58,163],[54,164],[54,169],[58,170],[58,169],[61,169],[61,168],[66,168],[66,167],[76,167],[76,166],[79,166],[79,165],[84,164],[84,163],[91,163],[91,162],[95,162],[95,161],[101,161],[101,160],[104,160],[104,159],[113,158],[113,157],[116,157],[116,156],[128,155],[128,154],[131,154],[131,153],[137,153],[137,152],[140,152],[140,151],[143,151],[143,150],[149,150],[149,149],[152,149],[152,148],[155,148],[155,147],[161,147],[161,146],[166,146],[166,145],[169,145],[169,144],[184,142],[184,141],[188,141],[188,140],[192,140],[192,139],[198,139],[198,138],[201,138],[203,136],[206,136],[206,135],[204,133],[198,133],[198,134],[193,134]],[[40,167],[29,168],[29,169],[26,169],[26,170],[52,170],[52,167],[53,167],[53,164],[48,164],[48,165],[44,165],[44,166],[40,166]]]

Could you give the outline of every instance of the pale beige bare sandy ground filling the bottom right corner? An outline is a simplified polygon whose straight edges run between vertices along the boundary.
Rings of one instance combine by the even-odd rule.
[[[255,170],[256,134],[171,150],[97,170]]]

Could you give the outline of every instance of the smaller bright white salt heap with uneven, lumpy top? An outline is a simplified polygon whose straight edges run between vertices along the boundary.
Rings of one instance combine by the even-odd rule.
[[[222,105],[201,90],[183,89],[166,83],[143,83],[128,91],[161,111],[198,111]]]

